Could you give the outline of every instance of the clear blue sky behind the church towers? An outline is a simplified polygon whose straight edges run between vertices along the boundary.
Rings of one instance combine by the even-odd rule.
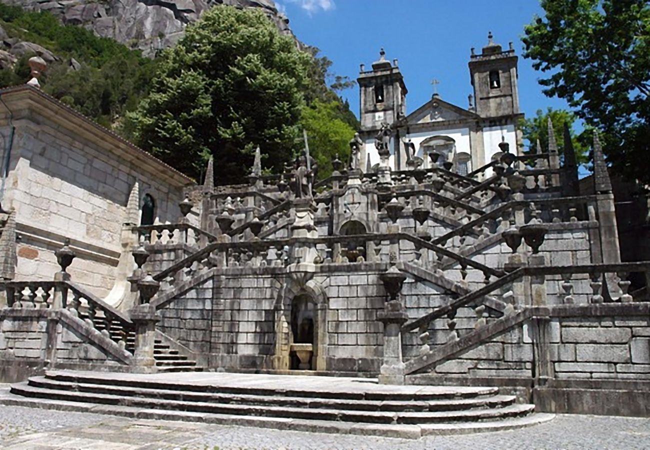
[[[523,27],[542,14],[538,0],[278,0],[290,27],[302,42],[316,46],[333,61],[332,72],[356,79],[359,63],[386,57],[399,60],[409,90],[407,111],[428,101],[432,79],[443,99],[467,107],[472,93],[467,62],[471,47],[487,44],[492,31],[503,47],[512,41],[519,55],[519,103],[526,116],[538,109],[567,109],[564,100],[547,98],[539,73],[523,59]],[[359,113],[357,89],[343,94]]]

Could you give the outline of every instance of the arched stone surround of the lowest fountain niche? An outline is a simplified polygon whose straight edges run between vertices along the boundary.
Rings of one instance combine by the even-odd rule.
[[[292,306],[296,298],[309,298],[313,304],[313,356],[311,369],[326,370],[327,356],[327,311],[328,298],[325,289],[315,280],[303,282],[288,278],[281,295],[279,308],[276,308],[276,355],[274,368],[279,370],[291,369],[291,344],[294,343],[292,330]]]

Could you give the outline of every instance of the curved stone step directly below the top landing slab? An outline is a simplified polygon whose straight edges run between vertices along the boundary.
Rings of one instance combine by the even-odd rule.
[[[305,397],[278,397],[265,395],[241,395],[228,393],[198,393],[192,391],[147,389],[132,386],[109,386],[101,384],[74,383],[31,377],[27,384],[34,388],[106,393],[124,397],[153,397],[174,401],[246,404],[250,406],[298,406],[301,408],[330,408],[339,410],[365,410],[384,412],[434,412],[474,410],[476,408],[502,408],[515,402],[513,395],[495,395],[486,399],[437,400],[437,401],[371,401],[345,399],[308,399]]]

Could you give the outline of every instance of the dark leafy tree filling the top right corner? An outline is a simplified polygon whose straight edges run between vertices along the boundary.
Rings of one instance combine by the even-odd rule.
[[[650,5],[647,0],[541,0],[525,27],[525,57],[547,96],[604,132],[608,161],[650,183]]]

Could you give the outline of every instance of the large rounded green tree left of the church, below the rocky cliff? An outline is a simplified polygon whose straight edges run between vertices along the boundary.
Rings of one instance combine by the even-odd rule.
[[[263,12],[212,8],[161,58],[127,114],[138,145],[195,178],[214,155],[217,183],[244,179],[257,145],[265,166],[291,160],[311,59]]]

